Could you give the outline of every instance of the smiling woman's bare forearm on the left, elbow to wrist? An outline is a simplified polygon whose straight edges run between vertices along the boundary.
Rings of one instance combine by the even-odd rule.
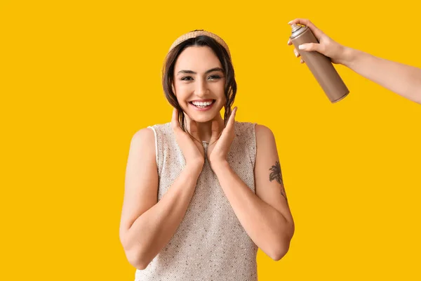
[[[186,166],[165,195],[128,230],[126,251],[133,266],[146,268],[173,237],[194,194],[201,166]]]

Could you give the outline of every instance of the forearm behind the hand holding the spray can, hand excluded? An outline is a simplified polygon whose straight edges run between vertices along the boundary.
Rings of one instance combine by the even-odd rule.
[[[353,48],[345,49],[345,60],[341,63],[380,86],[421,104],[420,68],[377,58]]]

